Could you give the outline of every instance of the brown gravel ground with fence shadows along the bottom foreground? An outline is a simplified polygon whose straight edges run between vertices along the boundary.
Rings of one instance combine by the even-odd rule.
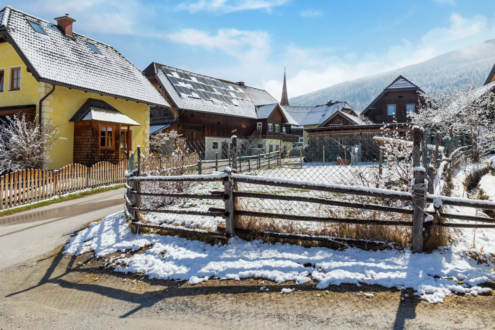
[[[66,257],[61,251],[59,246],[0,271],[0,329],[455,330],[493,329],[495,324],[493,293],[453,295],[430,305],[412,290],[377,285],[342,284],[329,287],[329,293],[315,289],[313,281],[294,286],[261,279],[208,280],[193,286],[115,273],[91,253]],[[495,288],[495,283],[488,285]],[[280,294],[283,287],[300,291]]]

